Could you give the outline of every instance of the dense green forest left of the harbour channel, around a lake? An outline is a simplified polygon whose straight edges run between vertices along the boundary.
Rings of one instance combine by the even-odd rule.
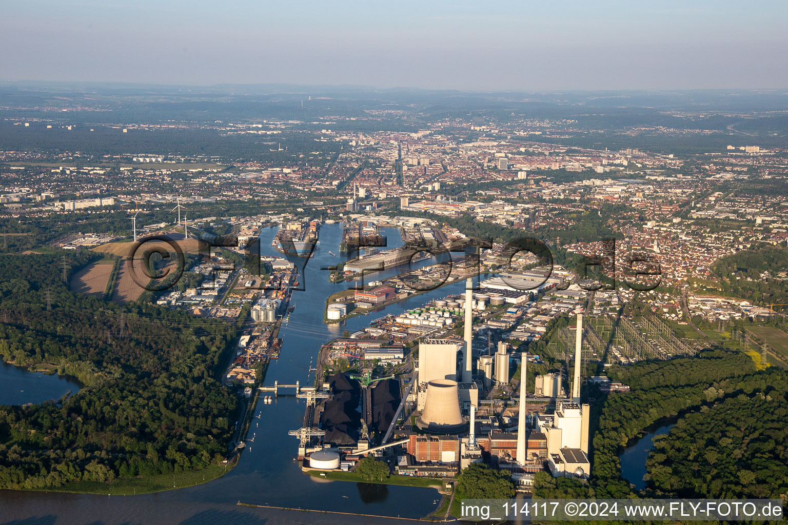
[[[0,406],[0,488],[110,482],[223,460],[237,401],[215,378],[233,327],[73,294],[60,256],[0,257],[0,355],[53,364],[82,385],[58,401]],[[71,274],[95,256],[69,257]]]

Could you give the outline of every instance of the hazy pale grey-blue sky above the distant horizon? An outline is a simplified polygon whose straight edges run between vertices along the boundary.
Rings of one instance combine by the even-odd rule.
[[[0,80],[788,87],[788,2],[6,0]]]

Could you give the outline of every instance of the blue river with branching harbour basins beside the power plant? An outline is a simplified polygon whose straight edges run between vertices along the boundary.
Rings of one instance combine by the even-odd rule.
[[[276,230],[266,228],[260,234],[261,254],[277,254],[270,248]],[[402,246],[396,229],[384,229],[388,248]],[[464,283],[454,283],[408,298],[368,316],[356,316],[341,324],[323,324],[325,298],[351,283],[329,283],[330,265],[348,257],[339,253],[341,227],[325,224],[320,233],[320,249],[308,260],[305,268],[305,291],[293,294],[292,312],[280,337],[284,338],[281,357],[272,361],[266,374],[266,385],[279,383],[309,384],[310,360],[317,357],[322,343],[340,337],[344,330],[356,331],[370,321],[388,313],[400,313],[424,304],[432,298],[464,291]],[[329,250],[337,254],[333,257]],[[400,270],[401,271],[401,270]],[[389,269],[370,275],[382,279],[396,275]],[[299,279],[300,280],[300,279]],[[5,386],[0,386],[5,390]],[[301,427],[304,401],[294,396],[279,396],[266,405],[258,403],[248,437],[254,439],[243,451],[239,464],[227,475],[203,485],[170,490],[158,494],[108,497],[88,494],[36,493],[0,491],[0,523],[15,525],[52,525],[61,523],[180,523],[224,525],[233,523],[385,523],[384,518],[337,516],[319,513],[294,513],[269,508],[236,506],[237,501],[253,505],[308,508],[337,512],[360,512],[378,516],[419,518],[437,507],[437,490],[409,486],[387,486],[384,490],[365,490],[349,482],[326,482],[304,475],[294,463],[298,441],[289,430]]]

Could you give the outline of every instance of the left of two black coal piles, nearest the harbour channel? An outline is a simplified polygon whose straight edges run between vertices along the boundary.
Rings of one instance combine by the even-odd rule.
[[[361,386],[343,373],[330,375],[329,385],[334,395],[320,415],[320,426],[325,431],[323,441],[337,446],[355,445],[361,430]]]

